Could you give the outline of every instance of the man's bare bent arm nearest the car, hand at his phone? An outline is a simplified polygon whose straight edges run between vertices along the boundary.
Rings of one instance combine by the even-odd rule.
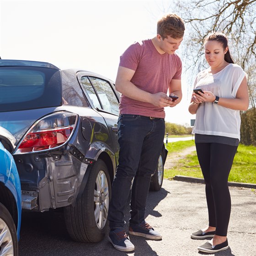
[[[174,104],[164,92],[151,94],[147,91],[139,89],[133,85],[131,79],[135,71],[132,69],[119,66],[117,70],[117,79],[115,83],[116,90],[123,95],[137,101],[143,101],[153,104],[156,107],[173,107]]]

